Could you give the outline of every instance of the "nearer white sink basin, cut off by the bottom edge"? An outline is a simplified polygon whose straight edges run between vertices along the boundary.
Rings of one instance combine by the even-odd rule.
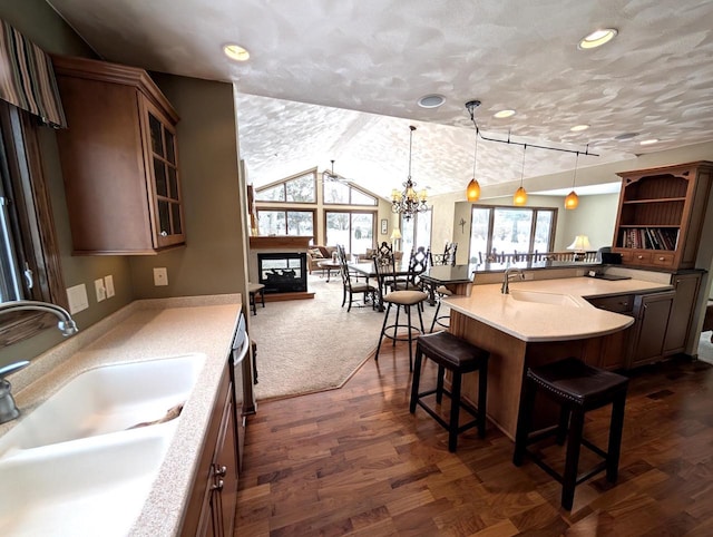
[[[0,535],[128,535],[176,424],[174,420],[0,459]]]

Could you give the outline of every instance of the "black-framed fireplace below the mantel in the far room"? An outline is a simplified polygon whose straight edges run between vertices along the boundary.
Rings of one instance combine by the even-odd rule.
[[[307,255],[304,252],[258,253],[257,272],[265,294],[307,290]]]

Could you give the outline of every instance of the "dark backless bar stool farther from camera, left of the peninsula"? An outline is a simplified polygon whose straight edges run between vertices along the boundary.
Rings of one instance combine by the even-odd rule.
[[[438,380],[436,389],[419,392],[422,357],[430,358],[438,364]],[[448,450],[456,451],[458,435],[478,426],[480,438],[486,436],[486,401],[488,396],[488,358],[490,353],[476,345],[456,338],[450,332],[437,332],[434,334],[419,335],[416,343],[416,364],[413,383],[411,384],[411,404],[409,410],[416,412],[416,406],[420,406],[448,431]],[[452,373],[451,390],[443,388],[445,370]],[[460,400],[460,387],[463,373],[478,371],[478,409]],[[421,398],[436,393],[438,404],[443,400],[443,393],[450,398],[450,421],[446,422],[432,408],[428,407]],[[460,408],[463,408],[475,419],[459,424]]]

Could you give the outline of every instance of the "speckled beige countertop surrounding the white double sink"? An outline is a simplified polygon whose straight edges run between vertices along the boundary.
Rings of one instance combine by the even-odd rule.
[[[139,300],[80,330],[12,377],[14,399],[25,414],[77,374],[99,365],[193,352],[206,355],[144,509],[131,527],[133,536],[169,536],[180,529],[241,309],[240,294]],[[17,422],[0,426],[0,436]]]

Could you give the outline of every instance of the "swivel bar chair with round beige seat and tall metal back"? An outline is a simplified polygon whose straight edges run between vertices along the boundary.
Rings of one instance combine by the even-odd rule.
[[[397,341],[408,341],[409,342],[409,371],[413,371],[413,333],[423,334],[423,315],[421,314],[421,305],[426,299],[428,299],[428,294],[423,291],[417,290],[401,290],[401,291],[389,291],[387,289],[395,289],[395,265],[393,257],[389,258],[385,256],[374,257],[374,272],[377,273],[377,277],[379,280],[379,289],[382,290],[383,294],[381,301],[387,304],[387,311],[383,316],[383,324],[381,325],[381,333],[379,334],[379,344],[377,345],[377,353],[374,354],[374,361],[379,360],[379,352],[381,351],[381,343],[384,338],[392,340],[392,345],[395,346]],[[397,306],[397,315],[393,324],[389,324],[389,314],[391,313],[391,306]],[[417,306],[416,311],[419,314],[419,328],[412,326],[411,323],[411,306]],[[403,312],[407,316],[407,323],[399,323],[399,314],[401,313],[401,307],[403,307]],[[399,329],[407,329],[406,336],[399,335]]]

